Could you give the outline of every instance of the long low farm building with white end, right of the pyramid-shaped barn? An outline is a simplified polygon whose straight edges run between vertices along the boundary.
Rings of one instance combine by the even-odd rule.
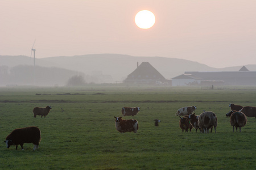
[[[184,83],[184,79],[176,76],[172,78],[172,86],[256,86],[256,71],[249,71],[245,66],[239,71],[185,71],[183,75],[189,75],[190,79]]]

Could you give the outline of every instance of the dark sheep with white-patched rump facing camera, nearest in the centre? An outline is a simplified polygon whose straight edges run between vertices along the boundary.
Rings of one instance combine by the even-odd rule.
[[[123,120],[122,117],[115,117],[115,129],[120,133],[125,133],[126,131],[137,132],[139,129],[138,121],[135,119]]]

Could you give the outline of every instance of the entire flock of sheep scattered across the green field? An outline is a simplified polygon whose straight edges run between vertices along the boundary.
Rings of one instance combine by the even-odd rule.
[[[241,105],[229,104],[231,111],[226,114],[226,116],[230,117],[230,124],[234,128],[239,128],[241,132],[241,128],[246,125],[247,117],[255,117],[256,118],[256,107],[242,107]],[[47,106],[46,108],[36,107],[33,109],[34,117],[41,116],[46,117],[51,110],[51,106]],[[135,116],[140,111],[140,107],[123,107],[122,115],[123,116]],[[216,133],[216,127],[218,124],[217,116],[213,112],[203,112],[200,115],[196,116],[193,113],[196,110],[196,106],[184,107],[177,110],[176,116],[180,117],[179,125],[182,131],[185,132],[191,131],[192,128],[197,130],[199,129],[201,133],[208,133],[209,130],[212,132],[213,128]],[[182,116],[182,117],[181,117]],[[115,129],[120,133],[125,133],[127,131],[133,131],[137,133],[139,129],[139,123],[137,120],[123,120],[122,117],[115,117]],[[154,120],[155,126],[158,126],[160,120]],[[16,150],[20,145],[23,150],[24,143],[33,143],[34,149],[36,150],[41,141],[41,131],[39,128],[31,126],[27,128],[14,129],[7,137],[6,147],[9,148],[11,145],[16,146]]]

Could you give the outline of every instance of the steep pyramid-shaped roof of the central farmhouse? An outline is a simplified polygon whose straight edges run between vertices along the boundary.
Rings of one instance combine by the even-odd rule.
[[[166,79],[149,62],[142,62],[141,65],[127,76],[125,82],[138,82],[143,80],[164,81]]]

